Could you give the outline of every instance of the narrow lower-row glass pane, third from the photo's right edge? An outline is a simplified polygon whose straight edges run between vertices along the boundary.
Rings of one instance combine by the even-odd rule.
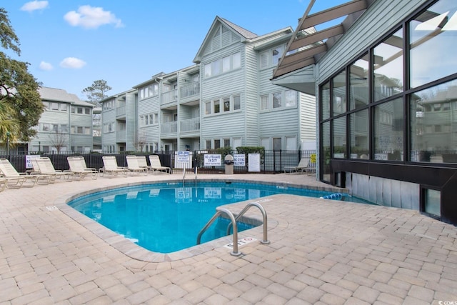
[[[349,136],[351,137],[351,159],[368,159],[368,109],[349,116]]]

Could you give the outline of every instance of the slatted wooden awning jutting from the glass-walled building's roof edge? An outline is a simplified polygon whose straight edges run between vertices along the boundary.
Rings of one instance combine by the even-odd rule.
[[[315,64],[375,0],[353,0],[309,15],[311,0],[273,71],[273,79]],[[317,31],[315,26],[346,16],[341,24]]]

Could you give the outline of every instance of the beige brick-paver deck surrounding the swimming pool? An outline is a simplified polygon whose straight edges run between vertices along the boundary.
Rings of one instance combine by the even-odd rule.
[[[65,204],[92,189],[181,178],[86,178],[1,192],[0,304],[457,304],[457,228],[417,211],[274,195],[261,203],[271,243],[259,242],[261,226],[243,231],[238,238],[258,241],[232,256],[226,240],[154,254]],[[199,178],[328,188],[298,174]]]

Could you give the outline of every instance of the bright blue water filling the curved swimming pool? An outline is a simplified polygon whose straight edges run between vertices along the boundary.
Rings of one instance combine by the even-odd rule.
[[[321,197],[331,193],[241,182],[161,183],[121,187],[81,196],[69,202],[82,214],[150,251],[169,253],[196,245],[201,228],[216,206],[273,194]],[[343,199],[353,199],[343,196]],[[267,211],[268,213],[268,211]],[[225,236],[229,221],[219,218],[201,242]],[[250,229],[238,224],[238,231]]]

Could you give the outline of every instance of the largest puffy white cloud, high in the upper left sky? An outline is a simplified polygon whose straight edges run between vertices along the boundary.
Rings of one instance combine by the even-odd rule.
[[[114,24],[116,28],[124,26],[121,19],[117,19],[111,11],[104,11],[102,7],[90,5],[79,6],[78,11],[69,11],[64,19],[71,26],[82,26],[85,29],[96,29],[104,24]]]

